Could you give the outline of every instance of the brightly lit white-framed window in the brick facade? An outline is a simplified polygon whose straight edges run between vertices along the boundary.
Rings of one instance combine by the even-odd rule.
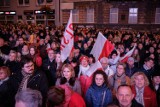
[[[138,8],[129,8],[129,24],[137,24]]]

